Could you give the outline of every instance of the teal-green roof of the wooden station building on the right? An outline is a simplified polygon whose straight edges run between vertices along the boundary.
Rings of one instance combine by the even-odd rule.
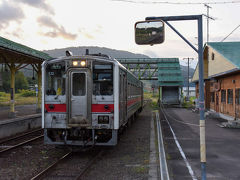
[[[207,45],[240,68],[240,42],[209,42]]]

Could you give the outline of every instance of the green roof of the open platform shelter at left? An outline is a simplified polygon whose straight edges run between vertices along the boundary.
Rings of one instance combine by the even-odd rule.
[[[0,58],[0,62],[12,61],[12,58],[8,58],[8,56],[9,57],[13,57],[13,56],[28,57],[28,58],[25,58],[24,63],[27,63],[26,59],[29,59],[29,60],[30,59],[38,59],[38,61],[39,60],[44,61],[44,60],[48,60],[48,59],[52,58],[51,56],[49,56],[46,53],[43,53],[36,49],[32,49],[30,47],[16,43],[14,41],[8,40],[3,37],[0,37],[0,51],[1,51],[2,55],[5,56],[5,59],[4,59],[4,57]],[[33,62],[33,60],[31,60],[31,63],[32,62]],[[18,63],[21,63],[21,62],[18,62]]]

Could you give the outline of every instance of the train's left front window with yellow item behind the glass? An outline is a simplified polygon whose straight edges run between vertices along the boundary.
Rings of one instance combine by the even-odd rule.
[[[64,64],[48,64],[46,67],[46,95],[65,95]]]

